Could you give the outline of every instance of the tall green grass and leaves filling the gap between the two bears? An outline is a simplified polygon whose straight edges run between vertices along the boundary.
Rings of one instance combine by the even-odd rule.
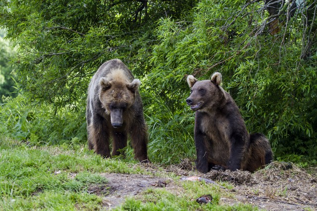
[[[151,90],[142,97],[145,99],[145,113],[151,114],[146,116],[150,139],[148,154],[151,161],[171,164],[179,163],[182,158],[194,158],[196,150],[192,136],[193,116],[185,117],[185,108],[171,110],[161,96]]]

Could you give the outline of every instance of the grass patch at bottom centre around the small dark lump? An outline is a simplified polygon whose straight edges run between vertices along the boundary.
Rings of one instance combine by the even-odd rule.
[[[202,195],[211,194],[212,203],[200,205],[196,199]],[[140,199],[129,198],[116,211],[253,211],[258,210],[251,205],[237,204],[235,206],[219,205],[220,197],[230,194],[223,193],[219,187],[202,182],[185,181],[179,190],[148,189]]]

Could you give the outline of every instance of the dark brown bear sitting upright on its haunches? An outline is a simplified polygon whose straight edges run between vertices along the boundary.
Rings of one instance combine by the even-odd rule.
[[[261,133],[249,135],[238,106],[220,86],[222,76],[214,73],[211,80],[187,77],[191,94],[186,99],[195,113],[194,139],[197,170],[213,169],[255,171],[272,160],[272,150]]]

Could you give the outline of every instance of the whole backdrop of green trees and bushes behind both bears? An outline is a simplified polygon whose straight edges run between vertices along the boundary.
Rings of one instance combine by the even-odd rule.
[[[185,79],[218,71],[275,160],[316,165],[316,3],[1,0],[1,138],[85,144],[89,81],[119,58],[142,82],[152,162],[195,159]]]

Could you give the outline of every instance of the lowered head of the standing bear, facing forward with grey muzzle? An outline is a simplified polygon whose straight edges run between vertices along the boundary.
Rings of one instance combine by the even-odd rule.
[[[110,115],[111,125],[121,127],[124,113],[134,104],[141,82],[139,79],[129,82],[124,74],[119,74],[119,77],[103,77],[99,83],[102,107]]]

